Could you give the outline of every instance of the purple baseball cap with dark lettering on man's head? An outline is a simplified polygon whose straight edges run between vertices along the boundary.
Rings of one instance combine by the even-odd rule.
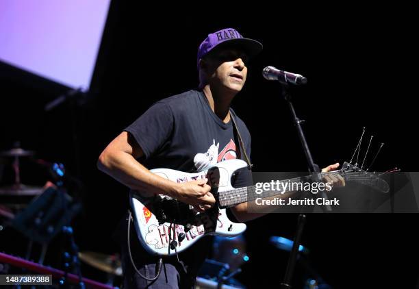
[[[208,34],[208,37],[203,40],[201,45],[199,45],[197,62],[210,53],[210,51],[231,46],[243,49],[249,58],[259,54],[263,48],[262,43],[259,41],[244,38],[236,29],[225,28],[212,34]]]

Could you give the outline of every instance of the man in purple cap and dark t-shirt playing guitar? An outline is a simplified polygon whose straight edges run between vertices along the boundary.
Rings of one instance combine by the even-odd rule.
[[[207,180],[176,183],[155,175],[151,168],[178,171],[203,171],[217,162],[240,158],[251,153],[251,136],[243,121],[235,116],[245,152],[231,118],[230,104],[246,82],[249,58],[262,51],[262,44],[243,38],[235,29],[209,34],[198,50],[199,88],[155,103],[129,125],[101,153],[98,166],[143,197],[166,194],[193,205],[199,212],[211,208],[216,200]],[[327,170],[337,168],[338,164]],[[250,186],[251,172],[238,173],[235,187]],[[261,214],[248,214],[242,203],[231,208],[238,221]],[[132,240],[135,240],[133,238]],[[123,263],[127,288],[192,288],[194,276],[210,244],[202,238],[177,257],[164,260],[162,274],[147,281],[134,273],[123,241]],[[132,242],[135,246],[138,242]],[[155,276],[156,258],[140,246],[134,248],[134,262],[142,275]]]

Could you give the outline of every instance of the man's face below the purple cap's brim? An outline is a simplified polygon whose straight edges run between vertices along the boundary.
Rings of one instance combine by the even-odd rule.
[[[238,49],[223,49],[207,60],[208,83],[212,86],[240,92],[246,82],[247,56]]]

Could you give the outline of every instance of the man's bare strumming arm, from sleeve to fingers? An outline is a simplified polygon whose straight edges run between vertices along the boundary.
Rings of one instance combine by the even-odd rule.
[[[136,159],[144,155],[141,147],[127,131],[123,131],[103,150],[97,166],[120,183],[150,197],[166,194],[203,211],[215,203],[206,180],[177,184],[151,173]],[[200,208],[201,205],[201,208]]]

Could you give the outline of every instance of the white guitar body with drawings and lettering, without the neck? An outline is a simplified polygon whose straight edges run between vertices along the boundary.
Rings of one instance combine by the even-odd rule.
[[[211,192],[217,196],[220,192],[234,189],[231,177],[246,166],[242,160],[227,160],[199,173],[183,173],[168,168],[151,171],[177,183],[207,178]],[[164,194],[147,198],[133,192],[130,203],[138,238],[144,249],[154,255],[179,253],[206,235],[233,237],[246,230],[245,224],[230,221],[226,210],[218,208],[218,205],[199,213],[191,205]]]

